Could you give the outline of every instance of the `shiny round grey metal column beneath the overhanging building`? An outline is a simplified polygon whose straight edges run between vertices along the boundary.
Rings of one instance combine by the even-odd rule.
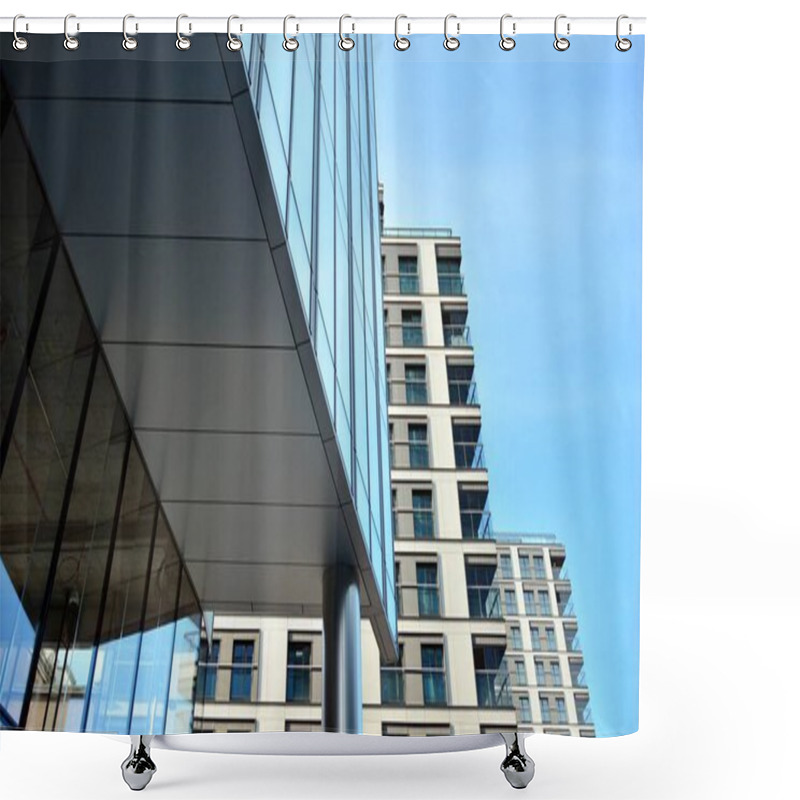
[[[322,578],[322,729],[361,733],[361,590],[358,570]]]

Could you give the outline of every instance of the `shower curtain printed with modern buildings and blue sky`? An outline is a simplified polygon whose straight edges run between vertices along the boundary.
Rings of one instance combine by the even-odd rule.
[[[643,37],[75,38],[2,36],[0,724],[635,731]]]

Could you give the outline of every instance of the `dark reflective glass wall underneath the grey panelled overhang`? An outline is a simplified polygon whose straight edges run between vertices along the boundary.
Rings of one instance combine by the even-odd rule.
[[[198,599],[5,91],[0,154],[0,725],[189,732]]]

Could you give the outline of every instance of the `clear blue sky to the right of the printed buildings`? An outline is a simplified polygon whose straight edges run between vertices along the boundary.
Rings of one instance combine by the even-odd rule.
[[[374,37],[388,225],[462,237],[497,531],[567,547],[597,733],[638,727],[644,39]]]

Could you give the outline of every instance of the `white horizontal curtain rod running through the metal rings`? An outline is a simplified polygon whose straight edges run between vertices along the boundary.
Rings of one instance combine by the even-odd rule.
[[[305,17],[288,19],[288,31],[298,33],[387,33],[408,36],[418,33],[443,34],[444,17]],[[506,15],[504,31],[507,35],[519,36],[530,33],[553,34],[554,17],[514,17]],[[175,33],[175,17],[136,17],[130,16],[126,30],[130,35],[142,33]],[[226,33],[228,17],[193,17],[182,15],[180,22],[184,35],[193,33]],[[617,31],[616,17],[570,17],[560,15],[559,31],[563,35],[592,34],[611,35]],[[397,26],[397,27],[396,27]],[[458,17],[451,15],[448,31],[456,35],[499,33],[500,15],[496,17]],[[17,33],[64,33],[64,17],[27,17],[17,20]],[[623,35],[644,33],[644,17],[627,17],[623,23]],[[10,33],[14,29],[14,17],[0,17],[0,32]],[[235,35],[247,33],[283,33],[284,17],[234,17],[231,31]],[[83,17],[69,15],[69,32],[81,33],[121,33],[122,17]]]

